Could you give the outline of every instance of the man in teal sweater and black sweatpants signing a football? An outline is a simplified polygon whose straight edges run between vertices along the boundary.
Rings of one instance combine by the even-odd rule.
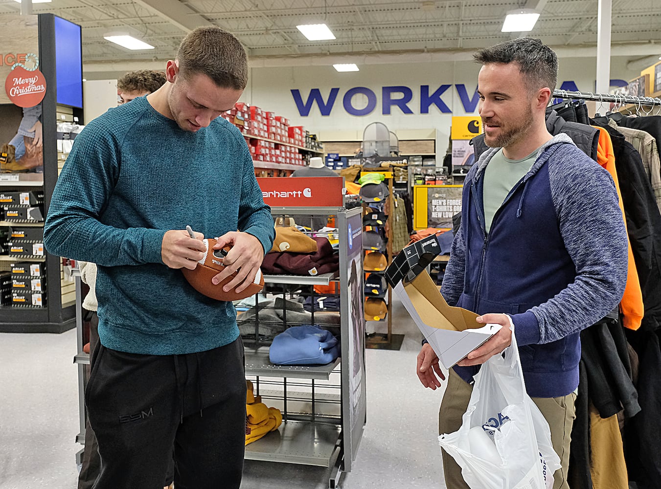
[[[245,50],[193,30],[167,83],[108,110],[76,138],[50,202],[48,252],[98,264],[98,334],[85,400],[97,433],[95,488],[238,488],[245,445],[243,345],[231,303],[180,268],[203,237],[232,244],[225,290],[253,281],[274,239],[243,136],[218,116],[247,84]],[[186,225],[196,231],[188,236]],[[237,231],[237,229],[239,231]]]

